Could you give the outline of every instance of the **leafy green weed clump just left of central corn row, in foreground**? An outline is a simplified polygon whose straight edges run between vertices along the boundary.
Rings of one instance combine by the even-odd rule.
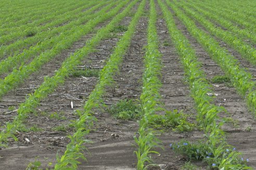
[[[123,120],[137,119],[140,116],[140,107],[133,100],[120,100],[112,105],[107,111],[115,118]]]

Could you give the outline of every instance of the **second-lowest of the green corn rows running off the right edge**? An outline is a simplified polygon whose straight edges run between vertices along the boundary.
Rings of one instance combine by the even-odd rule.
[[[176,0],[173,1],[175,5],[181,7],[180,3],[177,3]],[[213,36],[220,38],[229,46],[238,51],[243,58],[248,60],[251,64],[256,65],[256,49],[242,39],[232,34],[229,31],[224,31],[220,27],[216,27],[213,23],[208,21],[205,17],[200,15],[200,13],[182,6],[182,9],[189,15],[191,18],[194,18],[197,22],[202,24]]]

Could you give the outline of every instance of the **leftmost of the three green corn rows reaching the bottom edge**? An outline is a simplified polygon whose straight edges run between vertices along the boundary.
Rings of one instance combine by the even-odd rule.
[[[99,81],[96,84],[95,89],[89,95],[83,111],[76,110],[80,115],[80,118],[74,122],[76,132],[72,136],[69,136],[70,143],[67,145],[65,153],[61,157],[57,155],[57,163],[55,165],[56,170],[67,168],[75,169],[79,163],[78,159],[85,159],[83,155],[83,151],[86,150],[86,147],[83,145],[86,143],[84,136],[89,133],[90,127],[93,125],[93,122],[96,121],[96,118],[92,115],[92,109],[99,106],[102,101],[101,96],[105,93],[105,88],[107,86],[111,86],[113,83],[113,75],[118,72],[119,66],[122,63],[122,58],[131,44],[131,38],[135,32],[138,20],[143,14],[145,4],[146,0],[143,0],[142,3],[140,3],[127,31],[118,41],[117,46],[111,54],[107,64],[100,71]],[[101,29],[99,31],[101,36],[109,34],[113,26],[120,22],[121,19],[127,15],[127,12],[129,12],[130,9],[126,8],[114,20],[112,20],[106,28]]]

